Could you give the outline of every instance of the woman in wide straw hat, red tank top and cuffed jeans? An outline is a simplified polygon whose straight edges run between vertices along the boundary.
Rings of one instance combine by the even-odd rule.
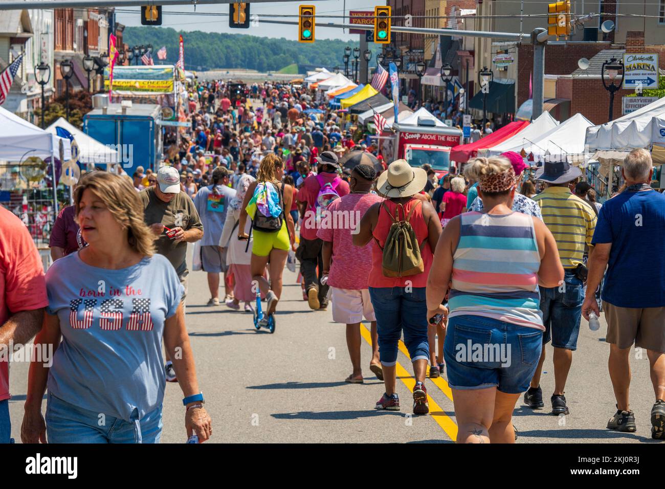
[[[432,250],[441,235],[441,223],[426,200],[415,198],[427,182],[422,168],[412,168],[406,160],[394,161],[376,181],[378,193],[386,200],[372,205],[360,220],[359,232],[353,244],[364,246],[372,238],[372,270],[368,286],[378,331],[379,355],[383,367],[386,392],[376,403],[377,409],[400,410],[400,399],[395,393],[395,365],[398,342],[404,331],[404,343],[414,366],[414,414],[427,414],[427,389],[424,381],[430,359],[428,344],[427,303],[425,287],[434,257]],[[391,216],[409,222],[420,244],[424,271],[415,275],[386,277],[382,267],[382,248],[386,244],[392,225]],[[442,311],[444,309],[442,308]]]

